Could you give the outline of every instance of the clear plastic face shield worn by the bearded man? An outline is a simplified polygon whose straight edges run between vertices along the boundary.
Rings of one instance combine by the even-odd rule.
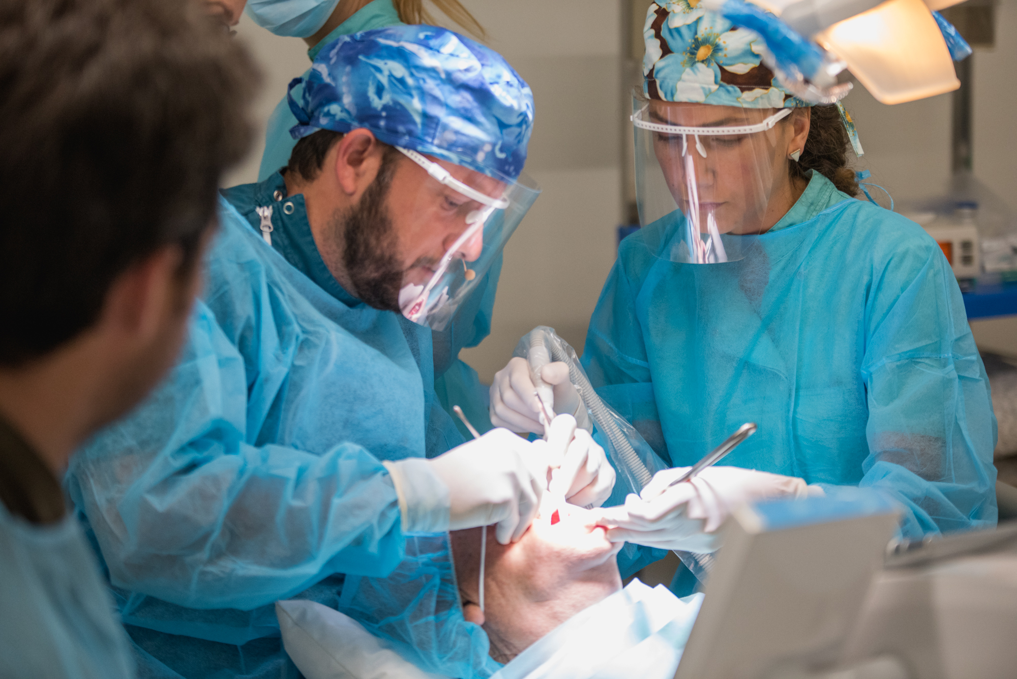
[[[523,221],[540,188],[526,175],[516,181],[501,178],[471,186],[423,155],[398,147],[407,158],[427,171],[432,179],[452,189],[469,206],[462,221],[462,233],[440,260],[430,268],[428,279],[404,280],[399,294],[403,315],[434,330],[443,330],[456,311],[491,267],[505,242]]]

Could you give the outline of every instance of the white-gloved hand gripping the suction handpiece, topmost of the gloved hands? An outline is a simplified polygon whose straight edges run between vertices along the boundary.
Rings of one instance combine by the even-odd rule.
[[[540,371],[540,378],[554,390],[554,403],[548,407],[557,414],[567,414],[586,421],[585,408],[579,391],[569,380],[569,366],[560,361],[548,363]],[[491,383],[491,424],[512,431],[544,433],[540,424],[540,402],[534,395],[536,386],[530,376],[530,364],[526,359],[516,357],[501,370],[494,373]],[[589,425],[586,425],[589,426]]]

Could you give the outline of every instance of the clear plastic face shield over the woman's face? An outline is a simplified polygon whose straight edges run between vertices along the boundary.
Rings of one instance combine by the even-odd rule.
[[[658,241],[648,245],[683,263],[743,258],[776,222],[774,198],[791,192],[793,111],[634,98],[640,223]]]

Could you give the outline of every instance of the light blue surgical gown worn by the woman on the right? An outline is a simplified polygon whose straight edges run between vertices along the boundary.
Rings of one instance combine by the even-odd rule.
[[[740,261],[648,245],[682,223],[621,243],[583,356],[665,460],[756,422],[725,465],[883,490],[907,538],[996,524],[989,380],[936,241],[819,173]]]

